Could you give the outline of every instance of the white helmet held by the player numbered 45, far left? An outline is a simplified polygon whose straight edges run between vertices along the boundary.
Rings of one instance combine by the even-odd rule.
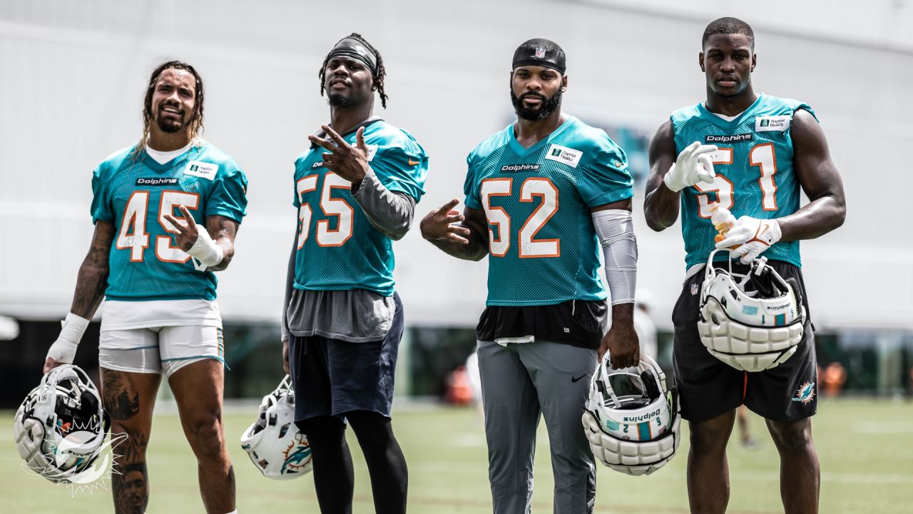
[[[98,458],[109,427],[89,375],[64,364],[28,393],[16,412],[13,434],[26,466],[52,482],[70,482]]]

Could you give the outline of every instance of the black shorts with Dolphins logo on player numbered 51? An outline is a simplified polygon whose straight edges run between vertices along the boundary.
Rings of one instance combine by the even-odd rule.
[[[806,316],[799,348],[776,368],[752,373],[732,368],[710,355],[698,336],[700,288],[704,281],[701,270],[685,282],[672,312],[675,326],[672,353],[683,418],[695,422],[707,421],[742,403],[752,412],[777,422],[801,420],[817,410],[818,367],[802,271],[789,262],[768,263],[783,279],[795,278],[802,290]],[[745,273],[746,269],[747,266],[733,263],[735,273]],[[811,394],[809,387],[812,388]]]

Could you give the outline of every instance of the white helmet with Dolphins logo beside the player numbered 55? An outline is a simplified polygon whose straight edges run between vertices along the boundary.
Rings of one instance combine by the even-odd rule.
[[[295,391],[289,375],[263,397],[257,422],[241,435],[241,448],[264,477],[289,480],[313,467],[308,438],[295,425]]]

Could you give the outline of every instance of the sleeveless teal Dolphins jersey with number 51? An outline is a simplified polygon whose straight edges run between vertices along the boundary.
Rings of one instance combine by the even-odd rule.
[[[799,209],[799,181],[792,172],[792,113],[811,112],[806,103],[761,94],[758,100],[728,122],[703,103],[672,113],[676,151],[699,141],[717,145],[711,155],[717,178],[682,190],[682,236],[686,267],[707,262],[717,235],[710,222],[710,205],[718,202],[737,219],[770,220]],[[801,266],[799,241],[780,241],[762,256]],[[715,260],[725,260],[726,253]]]

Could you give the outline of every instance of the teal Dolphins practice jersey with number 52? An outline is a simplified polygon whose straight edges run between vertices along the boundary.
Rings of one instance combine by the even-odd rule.
[[[590,208],[631,198],[624,151],[569,117],[523,148],[513,124],[467,158],[466,206],[488,219],[488,305],[604,300]]]

